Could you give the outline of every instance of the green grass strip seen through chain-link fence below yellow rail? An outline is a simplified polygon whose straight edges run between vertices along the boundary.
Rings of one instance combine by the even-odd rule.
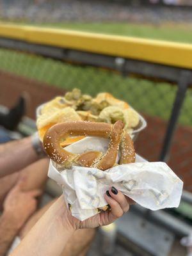
[[[92,96],[98,92],[110,92],[138,111],[163,120],[170,118],[177,92],[174,84],[121,76],[104,68],[82,67],[7,49],[0,49],[0,69],[65,90],[79,88]],[[179,124],[189,127],[192,126],[191,99],[192,90],[189,88],[179,118]]]

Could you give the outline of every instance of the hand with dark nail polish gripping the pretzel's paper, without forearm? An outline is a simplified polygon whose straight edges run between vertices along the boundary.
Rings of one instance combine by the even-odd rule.
[[[131,198],[124,196],[121,191],[118,191],[114,187],[106,192],[104,198],[111,207],[110,211],[102,211],[87,220],[79,221],[77,218],[74,218],[68,210],[68,214],[65,214],[67,223],[69,222],[74,230],[109,225],[117,218],[120,218],[125,212],[129,211],[129,205],[134,204],[134,201],[131,200]]]

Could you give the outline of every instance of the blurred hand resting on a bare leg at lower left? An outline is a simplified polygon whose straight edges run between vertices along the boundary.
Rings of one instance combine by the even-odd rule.
[[[23,180],[19,181],[8,193],[4,200],[4,214],[14,221],[17,228],[22,227],[26,220],[35,212],[37,200],[36,196],[41,195],[42,191],[22,191]]]

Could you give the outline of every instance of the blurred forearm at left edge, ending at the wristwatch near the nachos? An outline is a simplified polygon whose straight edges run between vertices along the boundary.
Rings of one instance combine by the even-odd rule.
[[[3,145],[0,150],[0,178],[17,172],[38,160],[31,137]]]

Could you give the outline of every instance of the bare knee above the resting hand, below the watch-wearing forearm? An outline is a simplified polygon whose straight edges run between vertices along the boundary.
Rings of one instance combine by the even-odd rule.
[[[22,161],[22,160],[21,160]],[[47,180],[47,170],[49,166],[49,160],[47,158],[36,161],[30,164],[20,172],[7,175],[0,179],[0,209],[3,204],[3,200],[10,189],[13,188],[15,183],[19,179],[24,179],[24,191],[29,191],[37,188],[44,188]]]

